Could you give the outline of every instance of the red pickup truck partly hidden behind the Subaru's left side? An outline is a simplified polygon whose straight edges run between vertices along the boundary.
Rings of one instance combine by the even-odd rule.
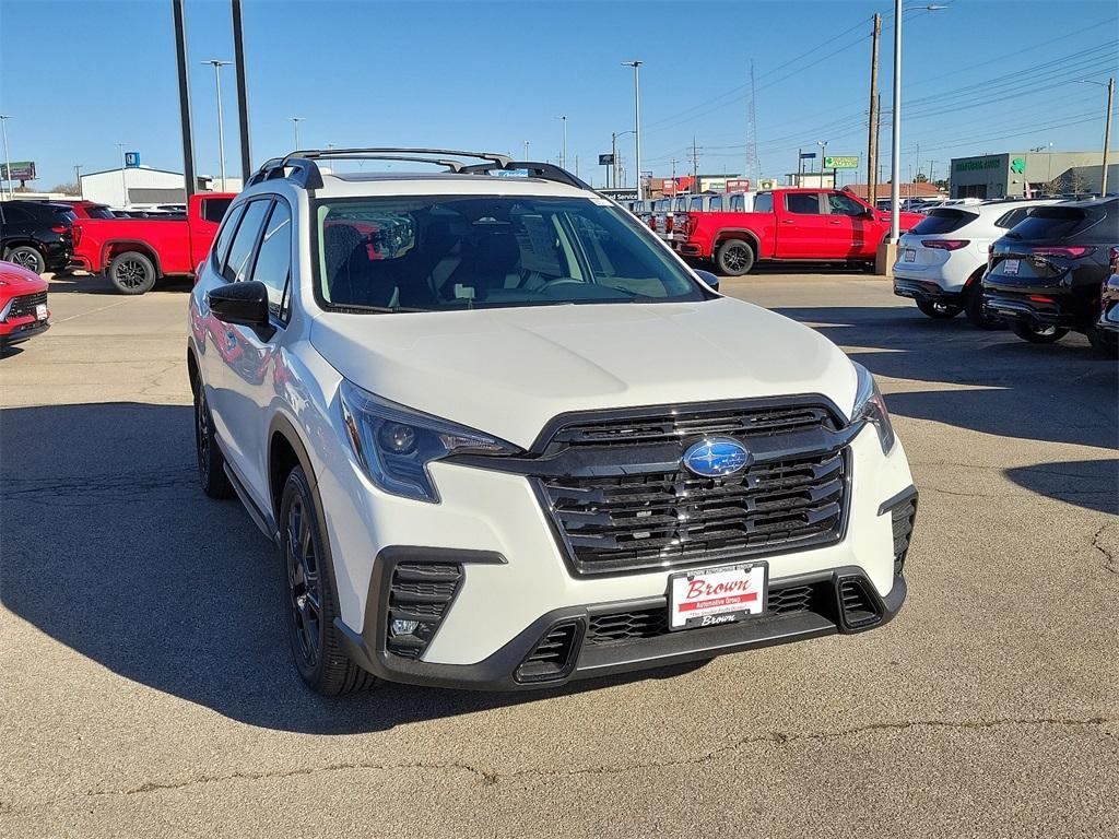
[[[91,273],[107,273],[121,294],[143,294],[168,274],[192,275],[234,197],[194,195],[185,219],[79,218],[74,223],[74,262]]]

